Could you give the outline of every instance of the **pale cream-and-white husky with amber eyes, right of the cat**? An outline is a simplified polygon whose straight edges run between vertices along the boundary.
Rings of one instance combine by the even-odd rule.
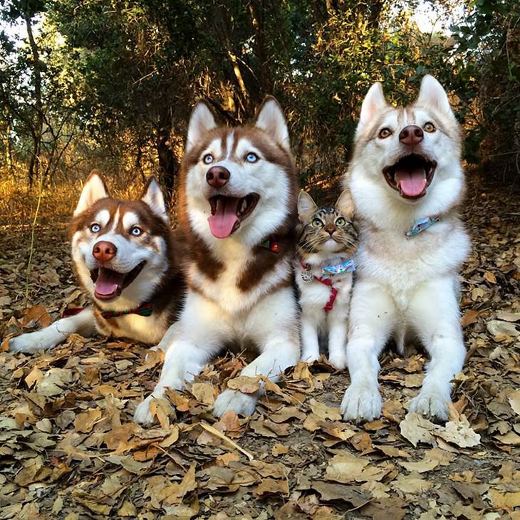
[[[457,270],[469,239],[461,133],[444,89],[425,76],[412,105],[394,108],[375,83],[363,101],[345,184],[360,222],[350,308],[345,420],[381,413],[378,356],[390,337],[402,353],[417,338],[430,354],[410,411],[447,420],[450,380],[464,363]]]

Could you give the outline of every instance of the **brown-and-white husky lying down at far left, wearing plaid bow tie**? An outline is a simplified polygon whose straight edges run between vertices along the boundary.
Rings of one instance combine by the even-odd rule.
[[[9,340],[9,350],[53,348],[72,333],[155,344],[180,311],[184,281],[159,184],[148,180],[142,199],[108,194],[90,173],[70,228],[76,277],[90,306],[41,331]]]

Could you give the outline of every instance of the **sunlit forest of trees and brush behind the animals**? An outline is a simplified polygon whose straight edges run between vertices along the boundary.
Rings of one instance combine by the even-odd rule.
[[[470,175],[518,184],[516,0],[0,6],[0,223],[31,222],[37,208],[41,219],[66,217],[93,168],[122,196],[157,175],[175,202],[199,98],[236,124],[274,94],[302,184],[317,192],[348,164],[370,84],[407,103],[425,73],[447,89],[464,126]]]

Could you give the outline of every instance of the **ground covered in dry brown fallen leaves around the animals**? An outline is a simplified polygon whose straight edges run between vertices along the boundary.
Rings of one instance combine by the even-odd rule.
[[[216,422],[223,385],[258,385],[236,379],[243,361],[229,355],[157,401],[160,424],[146,430],[132,413],[157,380],[159,355],[73,336],[40,355],[0,352],[0,519],[520,519],[517,200],[469,192],[468,360],[446,426],[405,420],[425,358],[389,351],[383,417],[365,425],[340,421],[348,375],[326,363],[301,363],[269,385],[249,419]],[[28,302],[30,230],[1,234],[4,336],[83,303],[64,224],[37,229]]]

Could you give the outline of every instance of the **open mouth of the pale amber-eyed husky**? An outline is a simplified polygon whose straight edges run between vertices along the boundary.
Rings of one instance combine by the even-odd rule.
[[[402,157],[395,165],[383,169],[386,182],[400,192],[405,199],[418,199],[426,194],[433,180],[436,161],[423,155],[410,154]]]

